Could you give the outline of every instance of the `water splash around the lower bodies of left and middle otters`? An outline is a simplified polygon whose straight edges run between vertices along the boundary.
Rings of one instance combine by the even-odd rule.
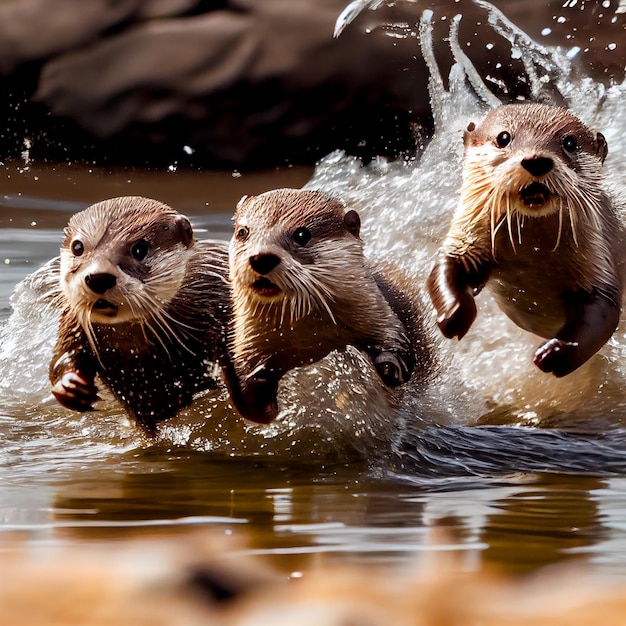
[[[57,258],[20,282],[11,297],[13,313],[0,327],[0,439],[19,441],[35,429],[54,434],[48,443],[55,450],[76,439],[126,445],[130,438],[131,445],[141,445],[138,430],[133,436],[121,407],[101,382],[104,402],[88,417],[63,409],[50,393],[48,366],[59,324],[60,311],[54,305],[58,293]],[[376,377],[357,350],[332,353],[285,377],[279,394],[281,412],[272,424],[257,425],[238,417],[221,387],[164,423],[160,440],[229,456],[367,456],[380,448],[381,441],[392,441],[402,421],[393,416],[403,392],[387,391]],[[13,420],[13,415],[20,418]],[[106,446],[97,449],[108,451]]]

